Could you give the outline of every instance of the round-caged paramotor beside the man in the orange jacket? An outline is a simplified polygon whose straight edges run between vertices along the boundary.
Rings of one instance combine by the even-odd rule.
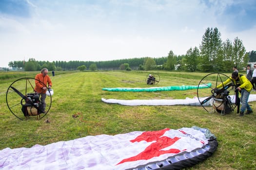
[[[35,94],[35,81],[36,79],[34,78],[21,78],[14,81],[7,89],[7,106],[12,114],[20,120],[33,116],[36,116],[37,119],[42,119],[51,108],[52,96],[50,94],[46,96],[45,109],[42,109],[41,98]],[[40,83],[43,84],[42,82]]]

